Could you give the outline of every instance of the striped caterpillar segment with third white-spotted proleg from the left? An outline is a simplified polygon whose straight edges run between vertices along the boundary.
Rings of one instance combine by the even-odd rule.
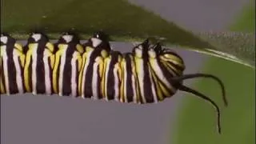
[[[78,75],[82,66],[84,48],[75,35],[63,34],[54,44],[53,88],[59,96],[78,97]]]

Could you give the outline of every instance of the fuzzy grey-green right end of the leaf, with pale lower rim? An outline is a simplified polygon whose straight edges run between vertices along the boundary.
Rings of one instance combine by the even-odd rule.
[[[208,32],[198,35],[214,46],[213,49],[206,48],[206,52],[246,66],[255,66],[255,34]]]

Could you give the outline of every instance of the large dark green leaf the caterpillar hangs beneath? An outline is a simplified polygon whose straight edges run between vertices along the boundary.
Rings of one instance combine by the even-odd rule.
[[[252,42],[242,41],[254,34],[232,34],[230,38],[218,33],[194,34],[124,0],[8,0],[1,6],[1,30],[18,39],[27,38],[34,30],[44,31],[50,38],[71,30],[82,39],[103,30],[113,41],[165,39],[166,46],[182,46],[251,67],[255,63]],[[238,38],[238,46],[230,45],[234,38]]]

